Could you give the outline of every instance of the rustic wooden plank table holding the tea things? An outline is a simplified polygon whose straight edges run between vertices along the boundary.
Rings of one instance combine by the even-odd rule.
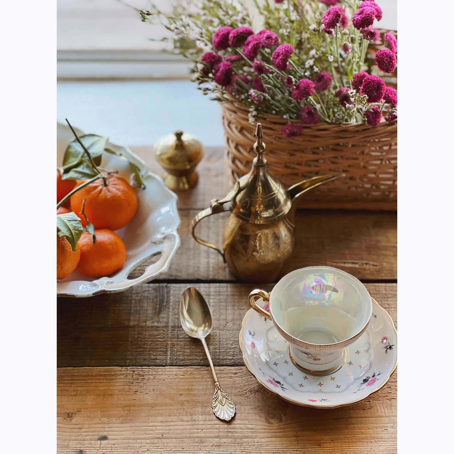
[[[133,151],[161,173],[150,147]],[[123,293],[58,299],[58,452],[396,453],[396,373],[357,404],[318,410],[281,400],[248,372],[238,334],[254,285],[237,282],[190,232],[195,214],[227,192],[222,149],[209,148],[198,170],[197,188],[179,194],[181,247],[168,273]],[[220,241],[225,219],[204,220],[200,235]],[[341,268],[364,282],[396,322],[396,224],[394,212],[300,210],[286,272]],[[212,413],[202,344],[180,326],[178,304],[189,285],[212,310],[207,343],[237,406],[229,424]]]

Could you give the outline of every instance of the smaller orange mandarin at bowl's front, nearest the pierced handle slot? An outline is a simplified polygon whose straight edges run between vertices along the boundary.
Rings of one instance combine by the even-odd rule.
[[[93,244],[93,235],[88,232],[84,232],[77,243],[80,248],[77,271],[84,276],[109,276],[126,262],[126,247],[112,230],[95,229],[94,233],[96,244]]]

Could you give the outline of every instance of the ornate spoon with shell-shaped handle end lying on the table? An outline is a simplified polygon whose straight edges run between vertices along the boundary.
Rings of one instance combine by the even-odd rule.
[[[235,405],[227,393],[222,391],[221,385],[219,385],[207,342],[205,341],[205,337],[210,334],[212,328],[210,308],[200,292],[194,287],[188,287],[183,291],[180,300],[180,320],[186,334],[200,339],[207,354],[215,382],[212,404],[213,413],[219,419],[230,421],[235,415]]]

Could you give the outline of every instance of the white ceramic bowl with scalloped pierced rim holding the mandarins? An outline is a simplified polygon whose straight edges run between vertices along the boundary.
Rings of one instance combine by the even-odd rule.
[[[78,135],[84,134],[79,129],[74,129]],[[69,127],[57,123],[57,166],[61,165],[66,147],[72,140],[74,135]],[[65,279],[57,281],[57,296],[94,296],[104,292],[127,290],[133,285],[151,281],[168,270],[180,245],[178,197],[164,185],[161,178],[148,172],[142,159],[131,150],[110,142],[107,147],[122,153],[135,163],[146,185],[143,190],[137,189],[138,209],[133,220],[126,227],[117,230],[126,246],[126,263],[113,275],[93,281],[76,270]],[[133,183],[130,165],[118,156],[103,153],[101,167],[118,170],[119,176]],[[141,276],[128,278],[139,265],[152,257],[158,257],[159,254],[157,261],[148,265]]]

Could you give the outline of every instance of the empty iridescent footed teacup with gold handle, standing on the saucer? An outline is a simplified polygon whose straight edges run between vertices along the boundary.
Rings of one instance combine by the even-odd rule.
[[[260,299],[263,307],[257,303]],[[289,342],[293,364],[313,375],[339,370],[347,358],[345,347],[364,333],[372,316],[365,286],[345,271],[328,266],[292,271],[271,295],[253,290],[249,302]]]

